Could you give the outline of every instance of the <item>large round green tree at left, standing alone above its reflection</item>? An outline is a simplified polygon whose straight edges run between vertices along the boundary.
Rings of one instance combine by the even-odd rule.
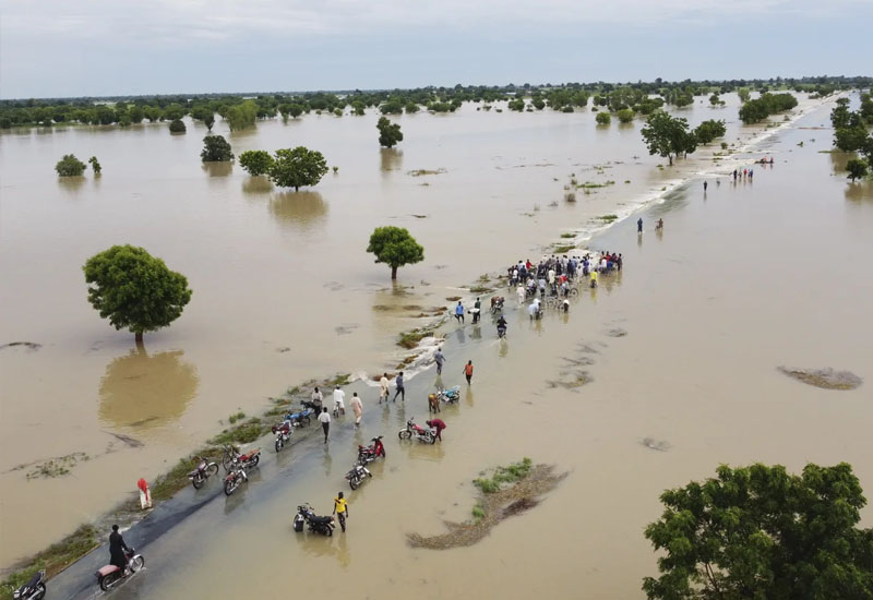
[[[143,333],[176,321],[191,300],[184,275],[167,268],[144,248],[113,245],[82,267],[88,301],[116,328],[127,328],[142,343]]]

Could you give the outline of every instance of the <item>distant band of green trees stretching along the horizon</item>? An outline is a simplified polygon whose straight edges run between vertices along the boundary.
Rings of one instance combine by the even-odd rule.
[[[648,115],[663,104],[678,107],[693,103],[695,96],[737,92],[743,101],[751,92],[806,92],[826,96],[834,92],[869,88],[873,77],[818,76],[802,79],[731,80],[637,83],[564,83],[542,85],[421,87],[416,89],[360,89],[343,92],[270,94],[180,94],[166,96],[118,96],[103,98],[57,98],[0,100],[0,128],[55,127],[65,123],[129,127],[144,120],[174,121],[184,116],[203,121],[208,128],[215,115],[231,130],[243,129],[256,120],[297,118],[309,112],[337,116],[347,108],[354,115],[376,109],[383,115],[452,112],[464,103],[480,103],[489,110],[492,103],[507,101],[511,110],[552,110],[572,112],[589,100],[596,108],[611,111],[632,109]],[[528,98],[529,103],[524,101]],[[716,100],[717,101],[717,100]],[[716,104],[714,101],[713,104]]]

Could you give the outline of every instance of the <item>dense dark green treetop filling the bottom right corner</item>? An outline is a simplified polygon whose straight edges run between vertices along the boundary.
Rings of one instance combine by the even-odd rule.
[[[873,529],[856,528],[866,501],[849,465],[716,472],[661,494],[645,532],[663,552],[649,600],[873,598]]]

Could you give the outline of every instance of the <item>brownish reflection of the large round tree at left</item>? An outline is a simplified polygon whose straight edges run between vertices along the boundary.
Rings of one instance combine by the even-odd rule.
[[[101,421],[115,427],[156,425],[182,416],[200,383],[183,352],[131,350],[106,367],[100,380]]]

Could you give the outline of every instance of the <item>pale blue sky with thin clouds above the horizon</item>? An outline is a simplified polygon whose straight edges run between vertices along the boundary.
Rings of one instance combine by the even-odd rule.
[[[0,98],[873,75],[873,0],[0,0]]]

